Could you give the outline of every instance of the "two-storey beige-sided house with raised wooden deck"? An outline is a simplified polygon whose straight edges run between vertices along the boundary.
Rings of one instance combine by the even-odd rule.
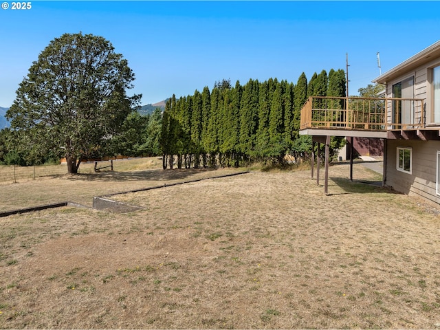
[[[330,136],[383,139],[384,184],[440,203],[440,41],[373,83],[384,97],[309,98],[300,134],[326,145]]]

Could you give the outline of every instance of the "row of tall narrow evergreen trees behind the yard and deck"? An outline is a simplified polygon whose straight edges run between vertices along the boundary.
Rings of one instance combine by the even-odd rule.
[[[296,85],[276,78],[221,80],[210,91],[173,95],[162,116],[160,146],[163,167],[239,166],[262,160],[281,163],[311,150],[310,137],[300,136],[300,109],[309,96],[346,96],[344,70],[322,70],[309,82],[303,73]],[[340,140],[332,143],[336,150]]]

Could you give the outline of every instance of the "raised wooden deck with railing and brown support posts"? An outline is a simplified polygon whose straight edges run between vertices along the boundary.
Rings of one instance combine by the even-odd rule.
[[[360,98],[311,96],[301,109],[300,135],[312,135],[318,143],[316,182],[319,185],[320,147],[325,144],[325,195],[329,195],[329,145],[331,136],[379,137],[383,139],[439,138],[426,126],[426,104],[416,98]],[[315,147],[312,148],[311,177],[314,177]],[[353,157],[350,164],[353,179]]]

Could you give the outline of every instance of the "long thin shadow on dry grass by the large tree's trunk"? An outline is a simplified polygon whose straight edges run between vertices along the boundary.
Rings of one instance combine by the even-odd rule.
[[[133,172],[104,171],[98,173],[78,173],[59,176],[60,179],[80,181],[172,181],[185,179],[200,173],[214,172],[214,168],[176,168],[173,170],[139,170]],[[238,170],[237,170],[238,171]],[[213,173],[212,173],[213,174]]]

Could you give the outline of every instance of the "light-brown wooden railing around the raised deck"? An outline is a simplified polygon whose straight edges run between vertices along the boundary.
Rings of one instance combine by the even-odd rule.
[[[388,131],[426,126],[424,100],[311,96],[301,109],[300,129]]]

